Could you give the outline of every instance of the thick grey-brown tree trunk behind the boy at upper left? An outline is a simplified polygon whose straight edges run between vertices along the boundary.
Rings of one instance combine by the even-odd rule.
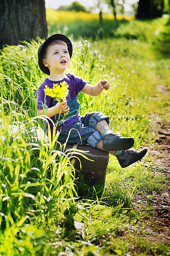
[[[0,48],[47,37],[45,0],[0,0]]]

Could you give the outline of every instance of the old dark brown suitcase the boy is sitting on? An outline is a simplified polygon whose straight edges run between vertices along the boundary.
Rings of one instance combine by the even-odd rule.
[[[56,150],[59,149],[59,144],[56,146]],[[88,183],[90,186],[96,183],[105,183],[106,179],[106,170],[109,161],[109,153],[106,151],[99,150],[97,148],[92,148],[89,145],[76,145],[76,144],[67,144],[65,151],[67,149],[76,147],[78,150],[89,151],[83,152],[82,154],[88,157],[91,160],[84,158],[83,156],[73,154],[77,156],[80,161],[82,168],[80,167],[80,161],[77,158],[74,162],[74,168],[77,170],[76,178],[80,178],[83,176],[84,181]]]

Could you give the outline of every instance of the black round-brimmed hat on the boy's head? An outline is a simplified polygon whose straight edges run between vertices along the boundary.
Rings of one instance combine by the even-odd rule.
[[[48,37],[41,45],[40,47],[38,48],[38,65],[40,67],[40,69],[47,75],[50,75],[50,71],[47,67],[44,66],[43,64],[43,52],[44,52],[44,48],[45,46],[52,40],[62,40],[64,41],[67,46],[68,46],[68,51],[69,51],[69,55],[70,55],[70,59],[71,59],[71,56],[72,56],[72,52],[73,52],[73,47],[72,47],[72,43],[70,41],[70,39],[63,35],[63,34],[54,34],[50,37]]]

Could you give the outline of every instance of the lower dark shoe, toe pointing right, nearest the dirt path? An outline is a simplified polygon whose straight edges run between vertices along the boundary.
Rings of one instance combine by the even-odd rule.
[[[129,150],[122,151],[122,153],[116,157],[121,167],[125,168],[142,159],[142,157],[146,155],[147,151],[148,150],[146,147],[142,148],[141,150],[130,148]]]

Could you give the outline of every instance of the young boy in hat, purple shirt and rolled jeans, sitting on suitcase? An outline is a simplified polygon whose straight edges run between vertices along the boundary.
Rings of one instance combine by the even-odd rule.
[[[48,75],[38,87],[36,97],[38,98],[37,115],[43,115],[42,103],[47,105],[47,116],[57,124],[56,132],[60,131],[58,141],[64,143],[70,129],[69,144],[89,144],[93,148],[108,151],[117,157],[122,168],[140,160],[147,153],[147,148],[135,150],[132,137],[122,137],[113,133],[109,128],[109,117],[101,112],[91,112],[81,116],[79,114],[80,103],[77,98],[79,92],[91,96],[98,96],[103,90],[108,90],[110,84],[103,79],[94,86],[88,84],[84,79],[65,71],[69,67],[72,56],[72,44],[69,38],[62,34],[54,34],[47,38],[38,49],[38,65]],[[63,102],[57,102],[54,98],[45,95],[45,85],[53,88],[53,84],[67,82],[69,94]],[[65,83],[66,84],[66,83]],[[64,113],[67,113],[64,115]],[[63,123],[63,115],[65,122]],[[53,123],[49,121],[51,134],[53,134]],[[79,133],[77,132],[79,131]],[[48,134],[48,126],[46,128]],[[80,139],[80,136],[81,139]]]

